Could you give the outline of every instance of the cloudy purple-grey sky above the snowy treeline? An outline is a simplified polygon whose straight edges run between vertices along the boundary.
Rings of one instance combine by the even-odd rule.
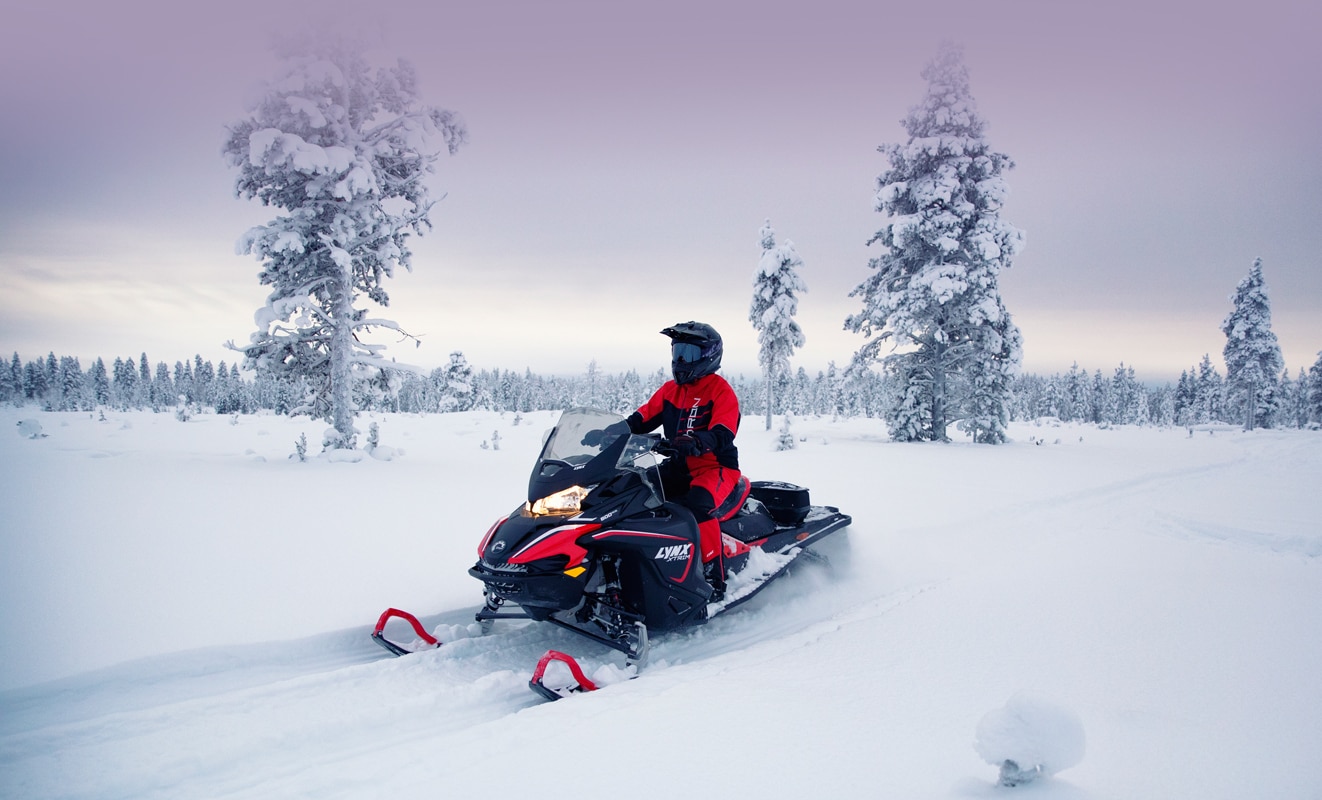
[[[271,37],[353,33],[415,63],[471,144],[389,290],[401,361],[615,372],[698,319],[756,372],[769,218],[805,260],[812,372],[862,344],[876,147],[943,40],[965,49],[1027,247],[1002,275],[1025,368],[1170,380],[1211,353],[1255,258],[1296,373],[1322,349],[1322,4],[1313,0],[127,0],[0,12],[0,350],[233,361],[266,291],[219,148]],[[1224,369],[1222,366],[1222,369]]]

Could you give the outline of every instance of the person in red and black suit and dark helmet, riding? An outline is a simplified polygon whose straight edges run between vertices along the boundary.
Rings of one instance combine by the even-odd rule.
[[[670,337],[670,372],[652,399],[629,415],[635,434],[661,426],[677,458],[662,468],[666,497],[689,508],[698,520],[698,549],[707,582],[720,596],[726,588],[720,524],[713,512],[739,481],[739,398],[720,368],[722,344],[705,323],[678,323],[661,332]]]

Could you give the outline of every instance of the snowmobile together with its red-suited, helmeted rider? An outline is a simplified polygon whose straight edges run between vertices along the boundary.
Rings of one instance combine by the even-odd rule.
[[[797,558],[820,558],[812,549],[850,524],[836,506],[812,505],[804,487],[740,476],[739,401],[715,374],[720,336],[694,321],[662,333],[672,340],[674,380],[628,419],[563,410],[535,459],[526,501],[483,537],[468,570],[483,582],[473,618],[483,633],[497,620],[547,623],[641,668],[652,635],[727,614]],[[658,426],[664,438],[646,435]],[[386,637],[397,618],[423,645],[440,647],[418,618],[387,608],[371,633],[383,648],[402,656],[423,647]],[[554,664],[566,665],[572,681],[549,678]],[[555,649],[529,685],[549,700],[595,688],[572,656]]]

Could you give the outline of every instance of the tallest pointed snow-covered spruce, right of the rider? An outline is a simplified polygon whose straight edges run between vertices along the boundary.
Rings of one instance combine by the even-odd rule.
[[[876,210],[888,220],[869,245],[886,250],[850,292],[863,309],[845,329],[867,337],[850,369],[882,360],[906,386],[887,419],[898,440],[947,440],[954,422],[974,442],[1001,443],[1022,361],[997,286],[1023,246],[1001,220],[1001,175],[1014,163],[984,138],[957,46],[943,45],[923,77],[927,97],[903,123],[908,141],[878,148],[891,164],[876,179]]]

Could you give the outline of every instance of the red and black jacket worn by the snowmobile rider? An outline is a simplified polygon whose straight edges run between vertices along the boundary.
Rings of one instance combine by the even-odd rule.
[[[652,399],[629,417],[629,430],[635,434],[654,431],[657,426],[666,439],[694,435],[706,450],[697,459],[711,459],[722,467],[739,468],[739,398],[718,374],[703,376],[690,383],[666,381]]]

